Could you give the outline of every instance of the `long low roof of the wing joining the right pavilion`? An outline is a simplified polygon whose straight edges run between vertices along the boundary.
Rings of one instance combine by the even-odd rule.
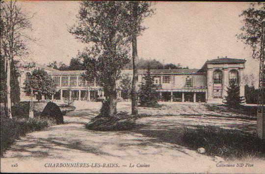
[[[152,74],[161,74],[161,73],[174,73],[174,74],[191,74],[198,73],[200,69],[151,69]],[[146,73],[147,70],[138,70],[139,74]]]

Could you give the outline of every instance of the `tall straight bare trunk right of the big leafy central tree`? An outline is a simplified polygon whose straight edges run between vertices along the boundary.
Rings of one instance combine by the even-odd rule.
[[[132,115],[138,114],[138,94],[137,94],[137,82],[138,82],[138,72],[137,72],[137,23],[136,20],[138,18],[137,9],[138,9],[137,1],[133,2],[133,10],[132,10],[132,19],[133,19],[133,33],[132,33]]]

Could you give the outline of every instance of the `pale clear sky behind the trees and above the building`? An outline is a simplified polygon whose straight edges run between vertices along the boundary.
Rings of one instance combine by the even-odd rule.
[[[38,44],[31,43],[30,59],[40,64],[56,60],[69,64],[82,51],[67,29],[77,22],[79,1],[20,1],[30,16]],[[245,73],[259,72],[250,48],[236,38],[243,25],[238,15],[249,2],[156,2],[155,14],[145,19],[148,27],[137,38],[138,57],[200,68],[219,57],[245,59]]]

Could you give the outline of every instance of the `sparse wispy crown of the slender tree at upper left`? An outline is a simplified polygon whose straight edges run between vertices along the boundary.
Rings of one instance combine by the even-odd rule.
[[[1,52],[10,59],[27,55],[27,41],[35,42],[35,39],[25,32],[32,31],[30,19],[33,16],[27,17],[16,3],[17,1],[13,0],[0,2]]]

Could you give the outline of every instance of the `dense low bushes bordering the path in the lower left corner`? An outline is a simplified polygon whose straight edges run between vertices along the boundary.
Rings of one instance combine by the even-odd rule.
[[[8,148],[20,136],[26,135],[31,131],[39,131],[53,125],[55,122],[51,119],[28,118],[28,119],[10,119],[1,117],[0,127],[0,154]]]

